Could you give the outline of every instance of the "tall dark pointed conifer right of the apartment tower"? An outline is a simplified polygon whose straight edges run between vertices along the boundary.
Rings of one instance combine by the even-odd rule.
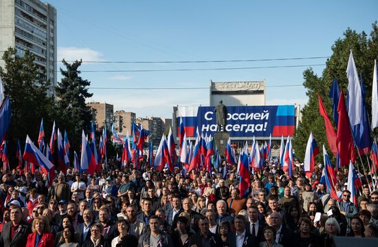
[[[81,60],[67,63],[63,59],[67,69],[60,68],[63,78],[56,87],[59,126],[67,130],[71,147],[76,151],[80,148],[82,130],[88,133],[92,120],[91,108],[85,104],[85,99],[93,95],[88,92],[91,83],[79,76],[81,64]]]

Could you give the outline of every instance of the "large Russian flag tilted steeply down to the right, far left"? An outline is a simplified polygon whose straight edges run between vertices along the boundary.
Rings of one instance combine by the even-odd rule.
[[[25,151],[23,152],[23,160],[32,164],[38,164],[45,175],[49,174],[49,171],[54,169],[54,164],[46,158],[41,151],[34,146],[29,136],[26,136]],[[54,170],[53,170],[54,171]]]

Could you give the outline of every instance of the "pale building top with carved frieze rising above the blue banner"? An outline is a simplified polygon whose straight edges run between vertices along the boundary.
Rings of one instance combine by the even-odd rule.
[[[265,80],[215,83],[210,80],[210,107],[265,105]]]

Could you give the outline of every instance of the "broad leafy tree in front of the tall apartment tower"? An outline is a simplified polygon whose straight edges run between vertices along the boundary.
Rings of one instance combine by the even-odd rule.
[[[8,48],[3,54],[4,67],[0,67],[5,94],[10,96],[12,118],[8,129],[7,140],[10,159],[14,158],[16,139],[21,145],[28,134],[34,142],[38,138],[41,118],[50,119],[54,109],[54,100],[47,97],[49,81],[45,70],[34,63],[34,55],[25,51],[23,56],[17,56],[16,50]],[[49,121],[47,121],[49,125]],[[14,164],[14,160],[11,160]]]

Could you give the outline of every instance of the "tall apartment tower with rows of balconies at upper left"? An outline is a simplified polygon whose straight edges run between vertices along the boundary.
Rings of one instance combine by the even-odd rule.
[[[34,54],[34,63],[45,69],[51,85],[48,96],[55,96],[56,86],[56,9],[38,0],[0,1],[0,66],[3,52],[16,48],[18,56],[26,50]]]

